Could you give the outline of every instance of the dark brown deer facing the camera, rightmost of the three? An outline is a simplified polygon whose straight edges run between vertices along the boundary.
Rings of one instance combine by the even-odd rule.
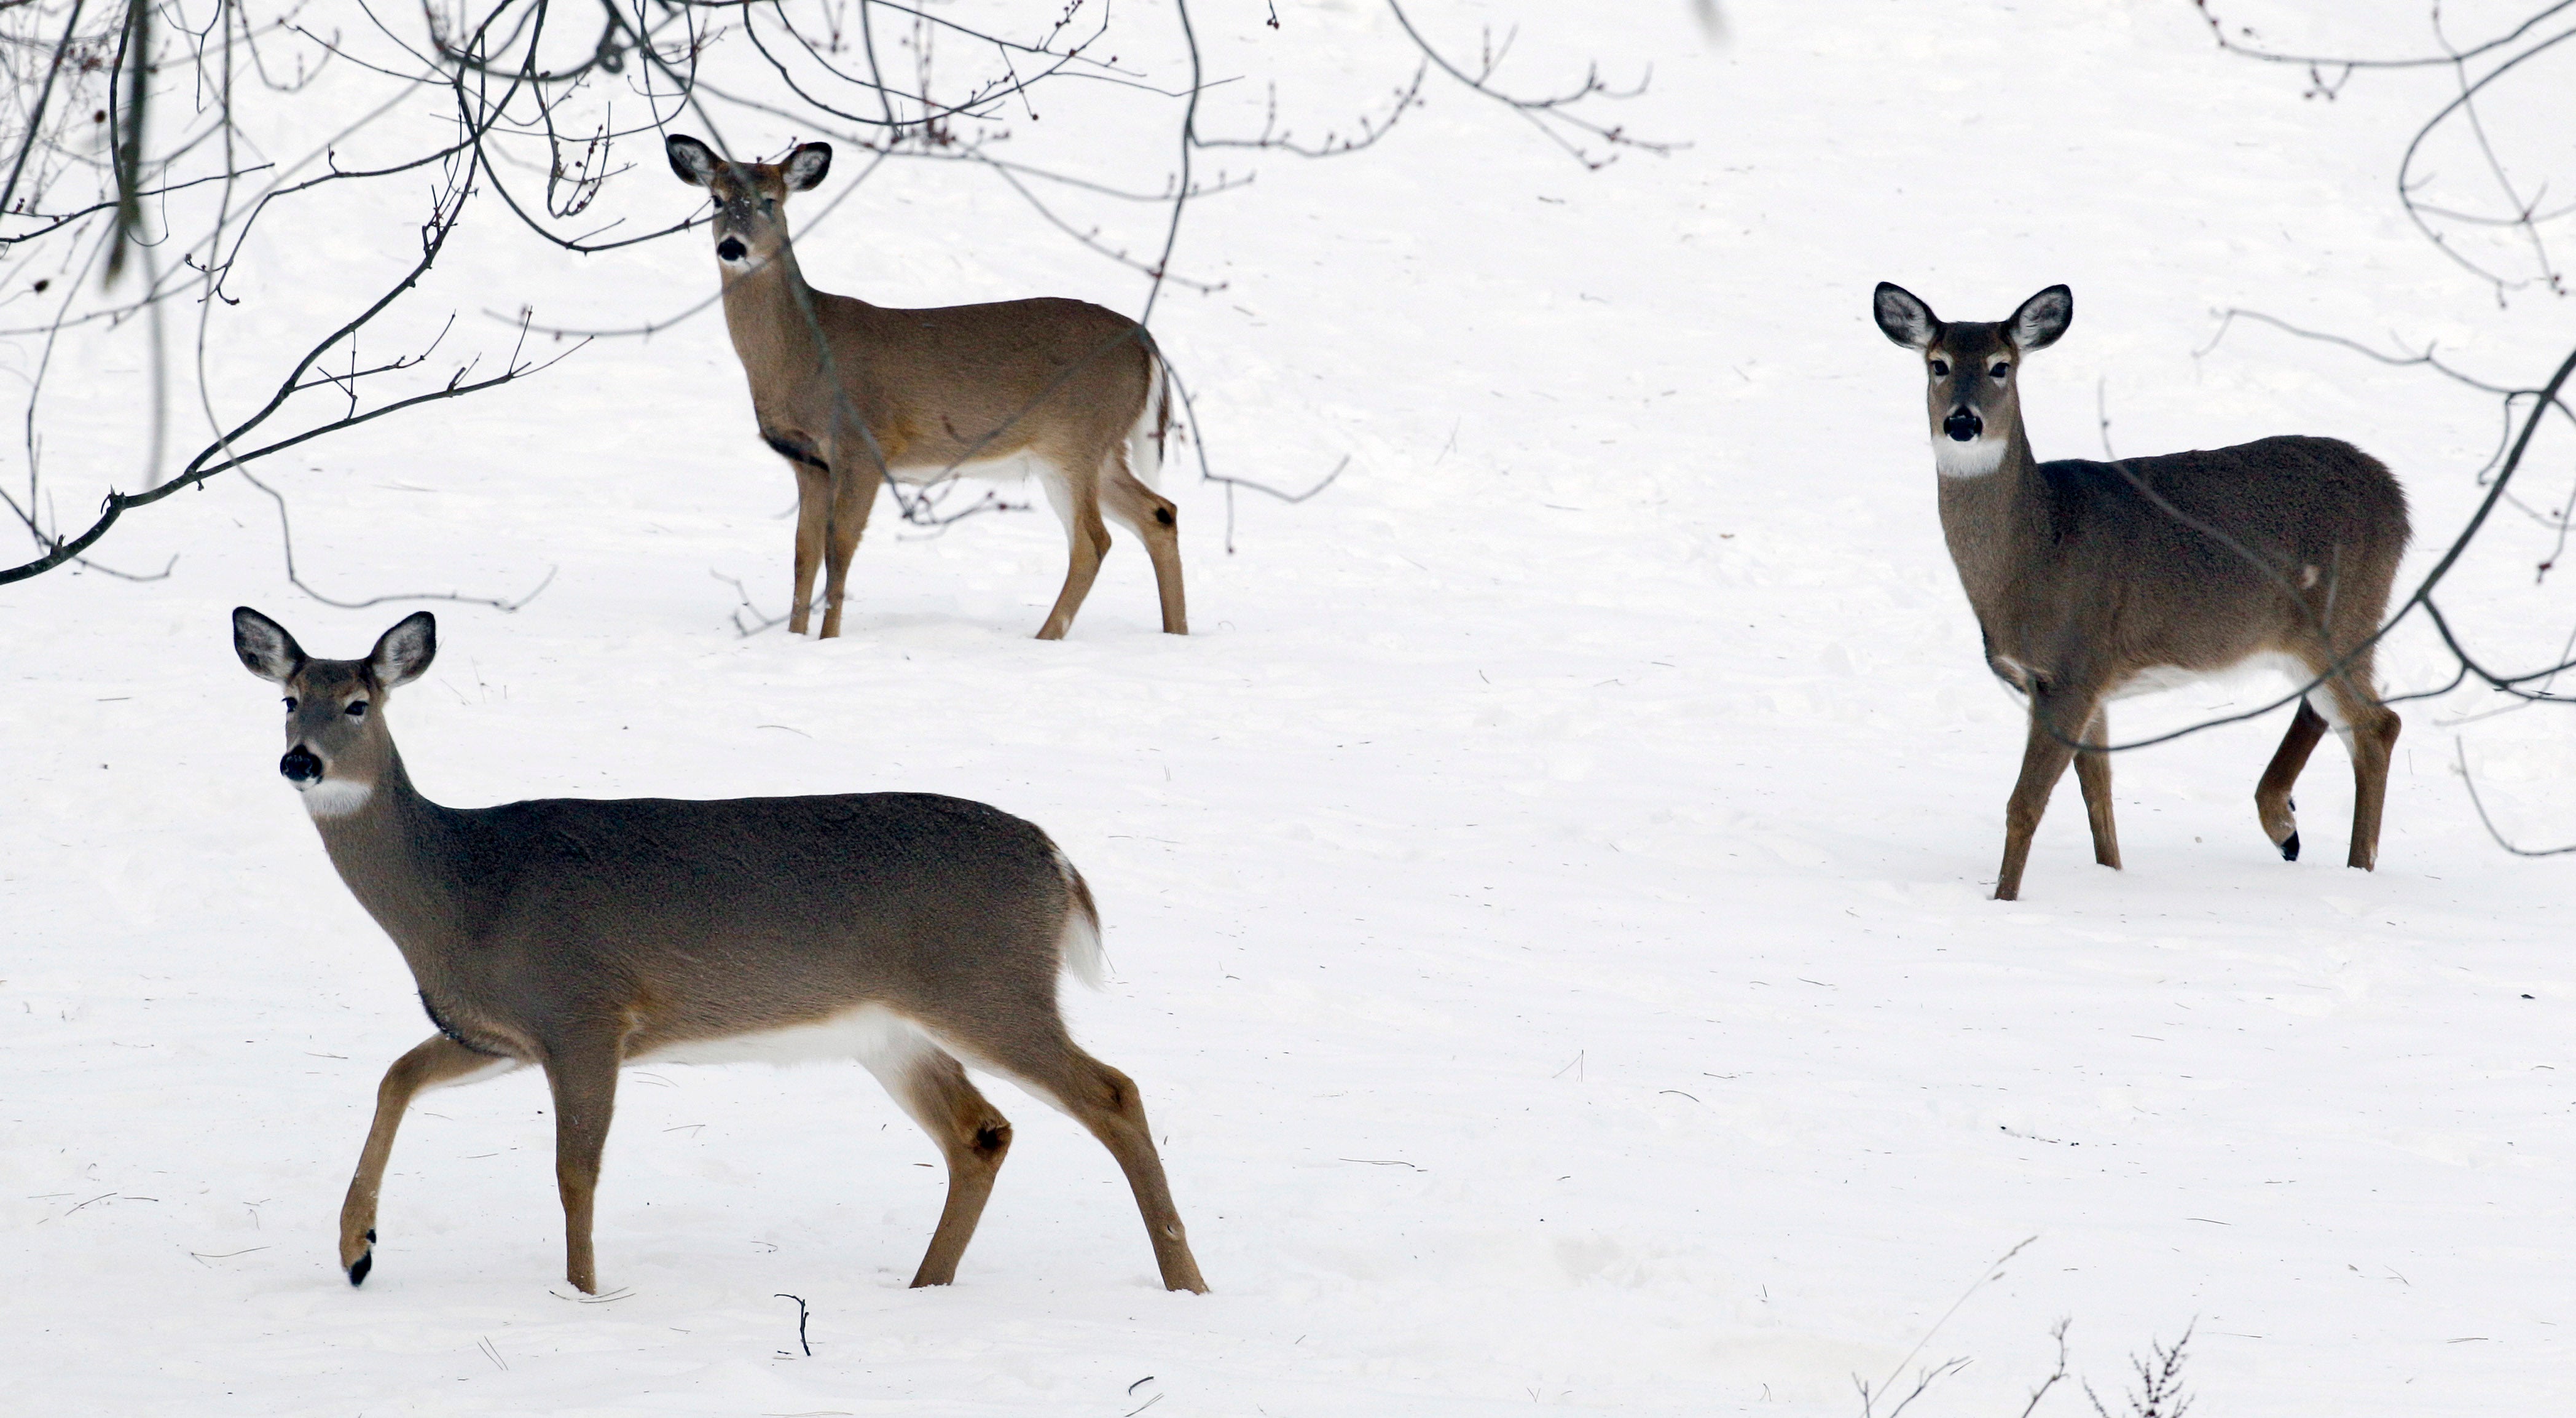
[[[1994,898],[2017,901],[2048,795],[2076,767],[2094,862],[2120,867],[2105,703],[2236,669],[2298,685],[2298,710],[2254,785],[2254,813],[2298,860],[2290,790],[2326,728],[2352,757],[2349,867],[2375,870],[2398,715],[2372,651],[2406,553],[2406,492],[2334,437],[2089,463],[2040,463],[2022,432],[2020,371],[2074,322],[2050,286],[2002,322],[1942,322],[1878,283],[1878,329],[1924,358],[1940,525],[1986,641],[1986,667],[2030,708],[2004,806]]]

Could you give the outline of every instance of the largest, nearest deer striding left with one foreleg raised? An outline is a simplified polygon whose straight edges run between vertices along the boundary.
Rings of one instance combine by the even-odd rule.
[[[422,1089],[544,1068],[564,1279],[595,1294],[618,1068],[855,1058],[948,1163],[914,1287],[956,1279],[1010,1153],[974,1063],[1090,1130],[1136,1194],[1164,1287],[1208,1289],[1136,1081],[1082,1053],[1056,1009],[1059,973],[1100,983],[1100,911],[1036,824],[930,793],[446,808],[412,787],[386,726],[386,697],[438,654],[430,612],[366,659],[312,659],[245,605],[232,649],[286,690],[278,772],[438,1029],[376,1089],[340,1207],[350,1284],[376,1264],[384,1163]]]

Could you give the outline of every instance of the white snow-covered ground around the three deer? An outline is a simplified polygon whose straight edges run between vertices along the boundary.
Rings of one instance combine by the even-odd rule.
[[[1200,15],[1211,75],[1329,116],[1409,72],[1363,0],[1255,10]],[[340,597],[556,569],[515,615],[435,605],[443,659],[392,723],[438,800],[938,790],[1043,824],[1115,968],[1066,1006],[1144,1086],[1213,1294],[1157,1287],[1110,1158],[1007,1086],[958,1284],[904,1289],[940,1174],[855,1065],[631,1071],[603,1302],[559,1279],[541,1081],[433,1094],[350,1289],[340,1192],[428,1027],[276,777],[224,612],[353,656],[412,602],[291,592],[273,507],[216,479],[100,548],[180,553],[170,579],[0,589],[0,1408],[1850,1415],[1855,1374],[1968,1356],[1914,1413],[1991,1415],[2061,1318],[2112,1410],[2125,1356],[2184,1325],[2210,1415],[2576,1400],[2568,870],[2499,852],[2452,772],[2465,739],[2501,826],[2576,836],[2568,721],[2406,705],[2375,875],[2339,867],[2331,744],[2308,860],[2267,849],[2282,715],[2128,754],[2128,870],[2092,865],[2069,782],[2025,901],[1986,901],[2020,710],[1942,553],[1919,368],[1868,317],[1880,278],[1953,319],[2069,281],[2074,329],[2025,378],[2040,456],[2097,453],[2102,414],[2123,453],[2352,437],[2414,497],[2411,582],[2478,497],[2494,401],[2213,335],[2257,306],[2545,373],[2566,306],[2496,311],[2396,211],[2445,80],[2300,98],[2184,0],[1736,0],[1726,49],[1680,0],[1569,10],[1522,13],[1530,87],[1651,62],[1618,118],[1690,147],[1587,172],[1432,85],[1381,147],[1195,211],[1180,270],[1226,288],[1167,293],[1157,329],[1216,458],[1350,468],[1242,499],[1231,556],[1221,492],[1167,471],[1190,638],[1154,631],[1123,533],[1072,638],[1036,643],[1043,512],[925,538],[886,510],[845,638],[737,638],[714,574],[783,605],[791,484],[711,317],[263,474]],[[2411,3],[2336,10],[2419,33]],[[1419,18],[1473,49],[1489,10]],[[1255,126],[1255,87],[1218,118]],[[611,193],[696,201],[652,167]],[[466,319],[634,322],[716,281],[696,237],[569,257],[492,216],[459,242],[438,314]],[[878,172],[799,250],[881,304],[1141,299],[956,167]],[[399,257],[263,252],[265,301]],[[134,378],[62,396],[106,417]],[[80,448],[46,458],[88,486]],[[2543,556],[2499,522],[2458,582],[2501,659],[2566,633]],[[2414,631],[2383,664],[2445,679]],[[2128,700],[2117,728],[2257,690]],[[2040,1408],[2081,1410],[2074,1385]]]

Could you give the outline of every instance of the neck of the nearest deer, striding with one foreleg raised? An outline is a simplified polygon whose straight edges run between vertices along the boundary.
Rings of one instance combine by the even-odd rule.
[[[428,986],[438,973],[435,955],[451,944],[453,921],[469,916],[459,911],[469,888],[461,870],[464,813],[422,798],[392,744],[363,795],[343,793],[340,800],[307,806],[350,896],[394,937],[412,975]]]

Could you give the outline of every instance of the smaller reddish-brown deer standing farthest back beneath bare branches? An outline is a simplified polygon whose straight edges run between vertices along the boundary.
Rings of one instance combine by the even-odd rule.
[[[1172,430],[1172,383],[1154,337],[1084,301],[886,309],[806,283],[788,242],[788,193],[814,190],[832,144],[786,162],[726,162],[665,139],[672,172],[716,203],[724,329],[752,386],[760,440],[796,471],[796,587],[788,631],[806,633],[824,569],[822,633],[840,636],[850,556],[881,481],[1036,474],[1064,522],[1064,589],[1038,628],[1061,641],[1108,556],[1108,512],[1144,543],[1162,628],[1190,633],[1180,510],[1146,481]]]

